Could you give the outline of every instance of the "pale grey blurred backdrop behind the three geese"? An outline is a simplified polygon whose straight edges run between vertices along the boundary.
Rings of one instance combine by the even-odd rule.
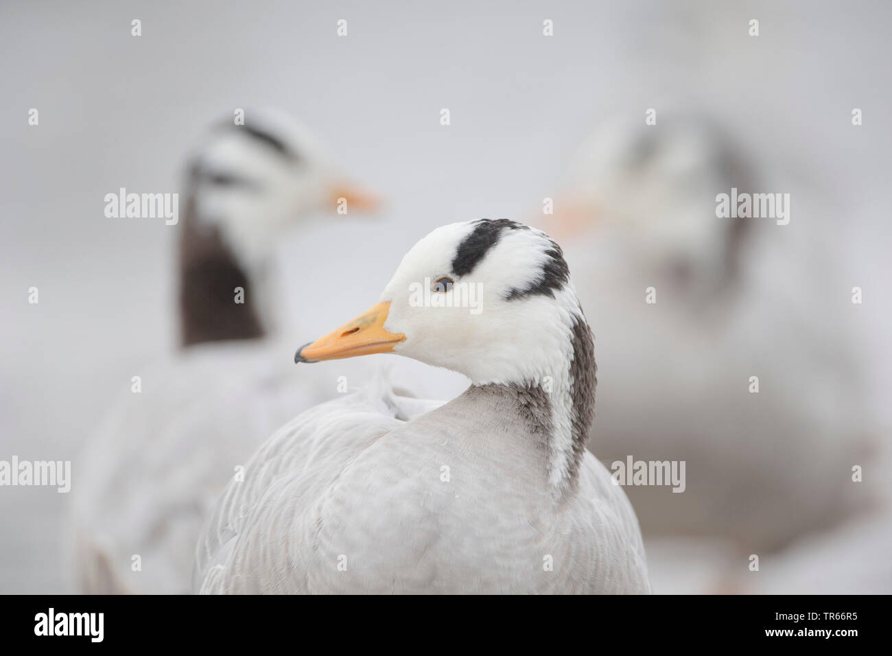
[[[835,208],[840,285],[863,286],[857,340],[888,399],[889,5],[716,4],[5,3],[0,458],[72,458],[130,376],[173,345],[175,230],[106,219],[103,195],[177,191],[210,120],[266,104],[309,123],[389,200],[384,220],[331,220],[283,245],[294,321],[310,337],[376,300],[430,228],[534,220],[600,119],[671,102],[736,126],[772,175],[766,190],[807,180]],[[335,36],[338,18],[349,37]],[[541,36],[544,18],[555,37]],[[309,325],[299,306],[314,309]],[[425,377],[442,394],[460,386]],[[70,590],[64,502],[0,488],[0,592]]]

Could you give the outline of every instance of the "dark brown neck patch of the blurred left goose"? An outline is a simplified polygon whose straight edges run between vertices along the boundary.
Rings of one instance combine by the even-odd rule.
[[[199,225],[191,198],[180,229],[180,344],[263,336],[253,303],[252,281],[223,241],[219,228]],[[244,289],[244,303],[235,303],[235,287]]]

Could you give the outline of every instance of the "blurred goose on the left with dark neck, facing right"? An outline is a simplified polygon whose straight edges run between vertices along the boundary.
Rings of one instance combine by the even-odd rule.
[[[334,380],[285,372],[272,251],[338,199],[362,212],[374,196],[347,183],[308,129],[269,111],[212,129],[183,196],[181,348],[125,394],[76,465],[80,592],[188,592],[199,528],[227,480],[272,430],[335,395]]]

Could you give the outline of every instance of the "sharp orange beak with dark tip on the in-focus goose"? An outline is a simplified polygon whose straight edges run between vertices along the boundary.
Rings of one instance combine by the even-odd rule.
[[[389,311],[390,301],[378,303],[334,332],[301,346],[294,353],[294,361],[321,362],[371,353],[390,353],[406,336],[402,333],[394,335],[384,330]]]

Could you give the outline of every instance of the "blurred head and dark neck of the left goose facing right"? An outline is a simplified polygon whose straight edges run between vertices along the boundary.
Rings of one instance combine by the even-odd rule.
[[[309,129],[277,112],[214,126],[187,171],[180,235],[182,341],[262,336],[276,328],[272,253],[302,221],[375,212],[376,195],[329,161]],[[343,209],[341,209],[343,208]],[[235,288],[244,289],[235,303]]]

